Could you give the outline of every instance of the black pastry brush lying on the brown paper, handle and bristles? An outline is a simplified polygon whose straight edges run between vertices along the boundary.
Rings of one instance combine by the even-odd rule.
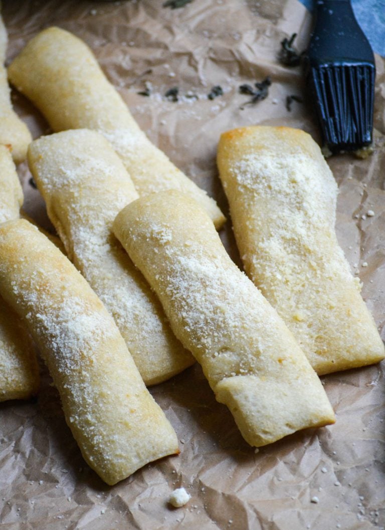
[[[375,65],[349,0],[318,0],[309,82],[323,141],[332,153],[372,143]]]

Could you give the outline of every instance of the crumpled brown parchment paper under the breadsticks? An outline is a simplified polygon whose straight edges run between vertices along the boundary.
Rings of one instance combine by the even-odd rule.
[[[308,39],[310,15],[297,0],[194,0],[179,10],[162,7],[162,0],[5,0],[3,16],[10,60],[52,24],[88,42],[148,136],[225,211],[215,166],[222,131],[264,123],[300,127],[318,139],[301,69],[277,61],[283,37],[299,33],[300,50]],[[152,72],[144,74],[148,69]],[[328,163],[340,188],[339,241],[363,281],[363,296],[384,337],[385,68],[380,57],[377,69],[375,153],[368,160],[340,155]],[[247,96],[238,93],[239,85],[266,75],[273,81],[268,98],[241,110]],[[148,98],[137,94],[145,81],[152,83]],[[207,93],[216,84],[224,95],[210,101]],[[179,86],[182,95],[197,94],[198,100],[166,101],[163,94],[172,86]],[[288,112],[287,94],[305,101],[294,102]],[[14,104],[35,137],[49,132],[22,96],[15,95]],[[49,228],[25,165],[19,171],[25,209]],[[362,218],[369,209],[374,217]],[[239,263],[230,222],[221,236]],[[230,412],[215,402],[194,366],[151,390],[177,431],[181,454],[147,465],[115,487],[103,484],[83,461],[44,366],[41,374],[37,402],[0,405],[0,528],[385,526],[383,366],[323,377],[336,424],[297,433],[257,452],[243,441]],[[171,509],[168,496],[181,486],[191,500]]]

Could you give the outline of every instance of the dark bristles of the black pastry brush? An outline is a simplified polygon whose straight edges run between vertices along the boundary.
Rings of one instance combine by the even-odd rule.
[[[354,151],[372,142],[373,65],[326,64],[310,70],[318,117],[332,152]]]

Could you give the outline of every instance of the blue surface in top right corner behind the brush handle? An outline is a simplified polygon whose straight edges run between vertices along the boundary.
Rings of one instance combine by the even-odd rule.
[[[300,0],[313,11],[315,0]],[[376,54],[385,57],[385,0],[352,0],[358,23]]]

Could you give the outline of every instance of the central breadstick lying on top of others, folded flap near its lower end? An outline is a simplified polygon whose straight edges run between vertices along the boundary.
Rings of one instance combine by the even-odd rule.
[[[293,335],[193,199],[154,193],[126,206],[113,228],[250,445],[334,422]]]

